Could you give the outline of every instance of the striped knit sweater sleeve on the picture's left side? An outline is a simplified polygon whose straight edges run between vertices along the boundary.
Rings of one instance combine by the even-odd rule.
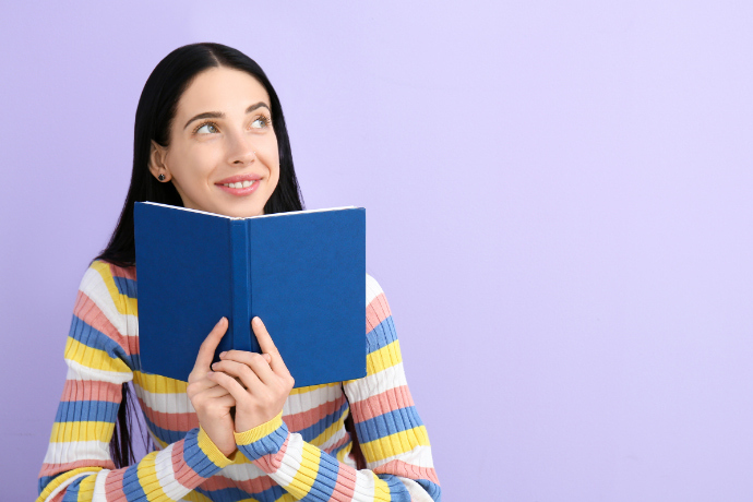
[[[131,274],[95,261],[81,282],[65,344],[68,375],[37,501],[178,500],[232,462],[196,428],[138,464],[115,469],[109,442],[139,345]]]

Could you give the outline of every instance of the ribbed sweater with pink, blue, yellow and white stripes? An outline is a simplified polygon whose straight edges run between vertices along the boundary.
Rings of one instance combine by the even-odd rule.
[[[135,270],[93,262],[73,311],[37,500],[440,500],[390,307],[371,277],[366,303],[367,376],[294,389],[282,415],[236,434],[238,451],[228,458],[199,427],[186,382],[140,371]],[[109,441],[128,381],[158,450],[115,469]],[[349,455],[348,414],[363,470]]]

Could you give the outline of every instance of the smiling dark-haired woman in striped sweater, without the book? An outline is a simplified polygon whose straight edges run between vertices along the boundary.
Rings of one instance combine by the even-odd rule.
[[[160,61],[144,86],[125,204],[79,289],[38,500],[440,499],[390,307],[371,277],[363,379],[295,389],[258,318],[263,355],[230,350],[211,367],[227,330],[222,319],[189,382],[142,373],[136,201],[229,216],[302,210],[283,110],[254,61],[226,46],[190,45]],[[157,443],[138,463],[129,382]],[[357,470],[359,456],[366,465]]]

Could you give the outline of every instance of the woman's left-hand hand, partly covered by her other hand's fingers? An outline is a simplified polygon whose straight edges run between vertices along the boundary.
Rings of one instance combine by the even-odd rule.
[[[227,319],[220,319],[204,339],[204,343],[201,344],[196,363],[189,374],[189,385],[186,392],[196,410],[199,423],[201,423],[204,432],[225,456],[230,456],[236,451],[232,416],[230,414],[230,408],[236,405],[236,401],[225,387],[208,378],[212,374],[211,364],[212,359],[214,359],[214,351],[227,332]]]

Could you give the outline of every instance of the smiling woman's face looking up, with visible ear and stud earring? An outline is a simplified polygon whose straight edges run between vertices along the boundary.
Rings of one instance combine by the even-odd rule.
[[[279,180],[270,96],[253,76],[224,67],[199,73],[178,101],[167,148],[153,143],[150,169],[183,205],[256,216]]]

